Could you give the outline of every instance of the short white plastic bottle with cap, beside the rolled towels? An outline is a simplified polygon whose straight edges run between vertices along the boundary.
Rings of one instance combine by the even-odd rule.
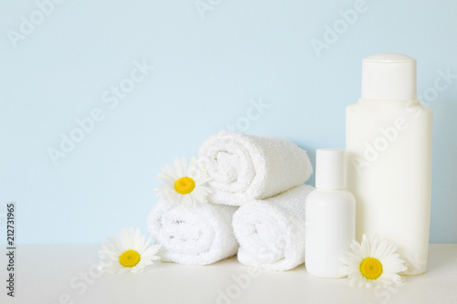
[[[305,205],[305,267],[315,277],[343,278],[338,258],[356,237],[356,200],[345,189],[344,149],[317,149],[315,186]]]

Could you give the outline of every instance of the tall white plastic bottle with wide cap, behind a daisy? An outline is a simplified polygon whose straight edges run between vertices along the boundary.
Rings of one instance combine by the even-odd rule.
[[[427,266],[432,110],[416,96],[416,60],[365,58],[362,97],[346,108],[348,189],[356,196],[356,237],[378,234],[399,248],[407,275]]]

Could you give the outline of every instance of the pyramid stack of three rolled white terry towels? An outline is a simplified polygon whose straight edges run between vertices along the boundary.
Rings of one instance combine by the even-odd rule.
[[[207,265],[238,251],[245,265],[303,264],[304,202],[314,189],[303,184],[313,173],[306,152],[280,137],[220,131],[201,145],[198,159],[211,178],[211,204],[176,207],[162,200],[148,217],[164,259]]]

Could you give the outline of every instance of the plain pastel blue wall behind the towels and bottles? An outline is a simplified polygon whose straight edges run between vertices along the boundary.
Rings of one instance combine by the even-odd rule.
[[[156,173],[228,124],[289,138],[313,162],[316,148],[344,147],[361,60],[380,52],[418,60],[434,110],[430,241],[457,243],[457,2],[59,1],[0,9],[0,213],[16,202],[20,244],[145,232]],[[340,12],[350,8],[352,24]],[[316,51],[325,26],[340,33]],[[120,84],[132,89],[122,100]],[[239,121],[259,100],[259,119]],[[99,121],[54,165],[49,148],[91,112]]]

